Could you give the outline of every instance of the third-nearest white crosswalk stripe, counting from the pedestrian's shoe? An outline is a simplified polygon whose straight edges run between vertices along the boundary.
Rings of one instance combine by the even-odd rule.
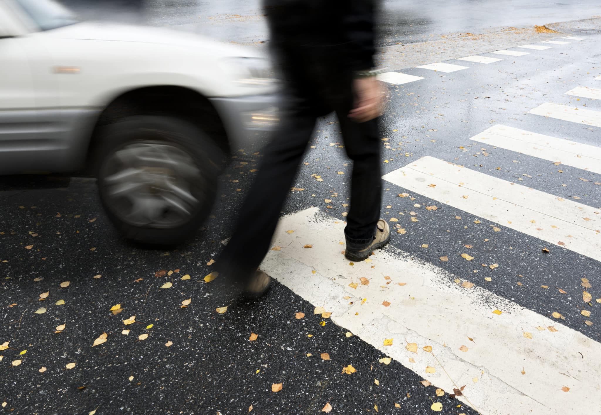
[[[601,174],[601,147],[502,125],[492,126],[469,140]]]

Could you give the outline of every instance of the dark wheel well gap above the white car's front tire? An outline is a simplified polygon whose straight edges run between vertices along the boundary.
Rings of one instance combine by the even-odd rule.
[[[171,115],[182,118],[197,125],[225,154],[230,154],[224,125],[218,112],[206,97],[182,86],[147,86],[124,92],[102,111],[94,126],[92,141],[88,148],[88,161],[99,145],[98,130],[106,124],[134,115]]]

